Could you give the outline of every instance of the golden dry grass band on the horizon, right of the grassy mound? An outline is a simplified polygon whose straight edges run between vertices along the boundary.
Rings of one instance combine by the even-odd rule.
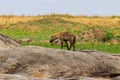
[[[89,18],[89,17],[73,17],[73,18],[63,18],[64,20],[84,23],[91,26],[102,26],[102,27],[117,27],[120,28],[119,18],[109,18],[109,17],[99,17],[99,18]]]

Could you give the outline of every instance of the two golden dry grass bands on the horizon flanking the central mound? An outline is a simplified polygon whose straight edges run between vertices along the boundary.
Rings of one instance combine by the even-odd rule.
[[[0,25],[15,24],[18,22],[27,22],[32,20],[43,19],[44,16],[0,16]],[[110,17],[61,17],[64,20],[83,23],[91,26],[117,27],[120,28],[120,18]]]

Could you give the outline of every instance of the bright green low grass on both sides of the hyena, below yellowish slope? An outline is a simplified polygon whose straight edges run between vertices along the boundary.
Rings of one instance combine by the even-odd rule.
[[[35,45],[35,46],[42,46],[42,47],[56,48],[56,49],[60,48],[60,45],[52,45],[49,43],[50,35],[48,36],[46,33],[41,33],[41,32],[30,33],[30,32],[23,32],[19,30],[18,31],[15,30],[15,32],[13,31],[12,33],[9,30],[1,31],[1,32],[9,35],[15,40],[22,39],[22,38],[34,38],[35,39],[34,43],[31,43],[31,44],[23,43],[22,45]],[[47,41],[47,42],[44,43],[44,41]],[[65,46],[64,46],[64,49],[66,49]],[[100,44],[96,44],[96,43],[78,44],[78,42],[76,43],[76,50],[84,50],[84,49],[99,50],[103,52],[118,54],[120,53],[120,44],[108,45],[108,44],[103,44],[103,43],[100,43]]]

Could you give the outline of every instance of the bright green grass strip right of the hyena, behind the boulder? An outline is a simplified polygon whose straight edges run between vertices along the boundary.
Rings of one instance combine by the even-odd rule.
[[[117,45],[108,45],[104,43],[95,44],[95,43],[85,43],[76,46],[78,50],[98,50],[102,52],[109,52],[109,53],[120,53],[120,44]]]

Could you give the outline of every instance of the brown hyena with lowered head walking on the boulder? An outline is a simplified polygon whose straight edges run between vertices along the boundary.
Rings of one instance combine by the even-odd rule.
[[[72,47],[73,50],[75,50],[76,36],[74,34],[66,31],[58,32],[51,36],[50,43],[54,42],[56,39],[60,39],[61,49],[63,48],[63,42],[65,42],[68,50],[70,50]],[[70,43],[70,47],[68,45],[68,41]]]

